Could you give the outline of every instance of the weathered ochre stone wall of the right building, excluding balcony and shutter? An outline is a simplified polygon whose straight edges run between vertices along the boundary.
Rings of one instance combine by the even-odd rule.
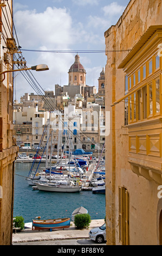
[[[105,69],[106,111],[111,112],[110,134],[106,137],[106,225],[107,244],[119,245],[119,186],[129,193],[129,244],[159,244],[158,183],[132,171],[128,162],[128,128],[124,124],[124,102],[111,104],[125,94],[125,73],[119,64],[152,25],[162,25],[160,0],[132,0],[118,23],[105,32],[108,52]],[[107,122],[106,122],[107,123]]]

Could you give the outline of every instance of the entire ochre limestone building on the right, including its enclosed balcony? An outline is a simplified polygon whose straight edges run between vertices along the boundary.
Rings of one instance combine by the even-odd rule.
[[[108,245],[162,245],[161,13],[131,0],[105,32]]]

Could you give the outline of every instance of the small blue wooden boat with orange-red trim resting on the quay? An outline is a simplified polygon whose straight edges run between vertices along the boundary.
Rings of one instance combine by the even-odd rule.
[[[59,218],[54,220],[33,220],[32,229],[41,230],[41,229],[58,229],[58,228],[69,228],[70,227],[70,218]]]

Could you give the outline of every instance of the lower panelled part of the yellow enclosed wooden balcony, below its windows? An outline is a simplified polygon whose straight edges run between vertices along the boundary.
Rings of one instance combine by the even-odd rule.
[[[128,162],[132,171],[162,184],[162,118],[128,125]]]

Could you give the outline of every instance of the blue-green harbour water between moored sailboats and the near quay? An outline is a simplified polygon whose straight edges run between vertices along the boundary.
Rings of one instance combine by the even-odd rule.
[[[25,223],[32,222],[37,216],[42,219],[71,217],[76,208],[83,206],[92,220],[105,218],[105,194],[93,194],[92,191],[57,193],[33,190],[25,180],[31,164],[15,163],[14,217],[22,216]]]

